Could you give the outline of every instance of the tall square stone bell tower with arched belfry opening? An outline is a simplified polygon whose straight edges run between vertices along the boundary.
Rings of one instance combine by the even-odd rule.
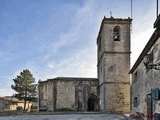
[[[102,20],[97,37],[100,110],[130,112],[130,25],[132,19]]]

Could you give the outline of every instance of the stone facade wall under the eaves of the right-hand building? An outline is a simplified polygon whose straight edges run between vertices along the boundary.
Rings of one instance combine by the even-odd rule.
[[[160,38],[153,44],[148,54],[153,53],[153,63],[160,63]],[[132,73],[132,112],[150,114],[151,88],[160,88],[160,70],[146,69],[143,61]],[[153,101],[153,112],[160,111],[160,100]]]

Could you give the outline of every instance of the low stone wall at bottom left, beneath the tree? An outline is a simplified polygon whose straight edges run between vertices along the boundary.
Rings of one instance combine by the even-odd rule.
[[[19,110],[4,110],[0,111],[0,116],[13,116],[13,115],[21,115],[22,111]]]

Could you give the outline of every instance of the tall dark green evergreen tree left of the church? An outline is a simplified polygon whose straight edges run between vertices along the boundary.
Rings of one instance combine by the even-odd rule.
[[[14,85],[11,88],[16,91],[14,97],[24,100],[24,110],[26,108],[26,101],[35,101],[37,96],[37,85],[35,78],[29,70],[23,70],[17,78],[13,79]]]

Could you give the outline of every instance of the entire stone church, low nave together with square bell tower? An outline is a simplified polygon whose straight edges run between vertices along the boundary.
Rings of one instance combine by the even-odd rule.
[[[98,78],[57,77],[38,83],[38,109],[130,112],[130,25],[106,18],[97,37]]]

